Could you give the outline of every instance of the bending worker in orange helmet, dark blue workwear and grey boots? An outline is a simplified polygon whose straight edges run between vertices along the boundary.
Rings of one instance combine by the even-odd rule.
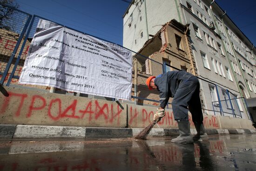
[[[172,143],[193,143],[193,140],[208,138],[202,123],[200,84],[197,77],[189,72],[170,71],[157,77],[151,76],[146,83],[149,90],[156,89],[159,91],[160,106],[154,115],[154,121],[159,121],[164,117],[165,106],[168,104],[169,98],[173,98],[172,109],[180,135],[172,139]],[[188,112],[192,114],[192,120],[197,131],[194,137],[190,133]]]

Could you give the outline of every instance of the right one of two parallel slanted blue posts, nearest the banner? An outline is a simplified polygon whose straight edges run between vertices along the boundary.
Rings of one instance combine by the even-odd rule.
[[[12,71],[12,73],[11,73],[11,75],[10,75],[8,81],[7,81],[6,86],[9,86],[10,83],[11,83],[11,81],[12,81],[12,79],[13,79],[14,72],[16,71],[16,68],[17,68],[17,66],[18,66],[18,64],[19,64],[19,61],[20,61],[20,57],[21,57],[22,52],[23,52],[23,50],[24,50],[24,47],[25,47],[25,45],[26,45],[28,35],[29,35],[30,31],[31,31],[31,28],[32,28],[33,24],[34,24],[34,19],[35,19],[35,17],[33,16],[32,20],[31,20],[31,22],[30,22],[30,25],[29,25],[29,27],[28,27],[27,34],[26,34],[26,36],[25,36],[25,39],[24,39],[24,41],[23,41],[23,43],[22,43],[22,46],[21,46],[21,48],[20,48],[20,53],[19,53],[19,55],[18,55],[18,57],[17,57],[17,59],[16,59],[16,61],[15,61],[15,64],[14,64],[14,67],[13,67],[13,71]]]

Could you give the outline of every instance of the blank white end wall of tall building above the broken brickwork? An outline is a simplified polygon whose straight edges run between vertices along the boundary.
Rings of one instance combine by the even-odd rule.
[[[135,5],[136,2],[137,5]],[[148,34],[155,35],[162,28],[163,24],[172,19],[179,19],[175,0],[144,0],[142,4],[140,0],[135,0],[135,4],[130,7],[128,14],[123,19],[123,46],[138,52],[148,40]],[[132,22],[130,22],[129,18],[131,14],[133,14]],[[131,23],[131,26],[128,26],[129,23]],[[142,38],[141,32],[143,32]]]

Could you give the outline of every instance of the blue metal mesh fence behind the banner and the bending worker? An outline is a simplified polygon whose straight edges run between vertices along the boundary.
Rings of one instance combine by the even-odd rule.
[[[8,18],[0,21],[0,84],[5,84],[6,86],[18,85],[20,73],[22,67],[24,66],[31,40],[36,31],[36,26],[41,18],[36,15],[32,16],[28,13],[24,13],[12,7],[9,8],[9,10],[12,10],[11,15],[9,15]],[[6,9],[8,10],[8,8]],[[159,105],[159,94],[156,90],[148,90],[146,79],[152,75],[157,76],[164,72],[180,69],[165,63],[162,64],[161,62],[150,59],[150,57],[145,57],[139,53],[132,51],[131,53],[133,55],[132,101],[138,105]],[[213,111],[214,114],[224,116],[225,114],[230,114],[234,117],[242,117],[240,109],[241,107],[239,106],[237,102],[238,99],[234,94],[214,83],[211,83],[208,80],[202,78],[199,79],[214,85],[216,87],[216,94],[218,97],[218,100],[212,102],[212,109],[204,110]],[[39,85],[19,86],[29,86],[44,90],[50,89],[48,86]],[[57,90],[57,92],[66,93],[66,91],[60,89]],[[221,92],[222,96],[220,96]],[[75,92],[69,93],[75,94]],[[80,96],[87,97],[85,94],[80,94]],[[221,99],[220,97],[224,97],[224,99]],[[171,101],[172,99],[170,98],[167,107],[171,107]]]

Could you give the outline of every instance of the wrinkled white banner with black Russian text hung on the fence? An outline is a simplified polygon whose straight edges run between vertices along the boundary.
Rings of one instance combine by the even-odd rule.
[[[39,20],[19,83],[130,100],[132,55],[121,46]]]

